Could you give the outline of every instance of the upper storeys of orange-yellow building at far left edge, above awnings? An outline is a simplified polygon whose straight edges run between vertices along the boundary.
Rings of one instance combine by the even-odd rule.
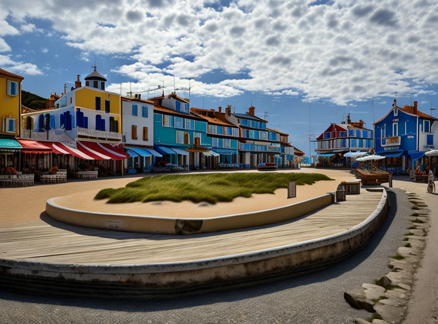
[[[1,137],[13,138],[20,134],[21,81],[23,79],[24,77],[20,75],[0,68]]]

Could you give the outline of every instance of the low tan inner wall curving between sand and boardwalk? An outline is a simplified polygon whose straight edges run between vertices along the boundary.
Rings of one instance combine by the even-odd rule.
[[[312,213],[332,203],[331,195],[324,194],[296,204],[257,212],[211,218],[173,218],[80,211],[59,206],[54,202],[55,199],[47,200],[46,213],[67,224],[127,232],[182,235],[280,223]]]

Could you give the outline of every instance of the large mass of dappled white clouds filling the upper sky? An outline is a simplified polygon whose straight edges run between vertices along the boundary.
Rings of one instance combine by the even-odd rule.
[[[173,84],[176,75],[185,84],[194,79],[194,93],[211,96],[255,91],[350,105],[395,92],[430,93],[438,84],[436,2],[236,0],[217,11],[206,3],[9,0],[0,5],[0,36],[18,33],[8,14],[48,19],[58,41],[80,49],[86,61],[92,52],[124,55],[133,64],[115,70],[138,85]],[[30,25],[21,30],[36,28]],[[199,82],[212,71],[233,77]]]

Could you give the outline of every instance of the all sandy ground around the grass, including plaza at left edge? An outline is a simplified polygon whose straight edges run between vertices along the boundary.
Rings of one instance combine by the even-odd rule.
[[[138,176],[102,178],[94,181],[69,181],[67,183],[24,188],[0,188],[0,226],[39,220],[41,213],[46,209],[46,200],[52,197],[62,196],[63,198],[57,199],[56,202],[75,209],[169,217],[206,217],[206,215],[218,216],[245,213],[297,203],[300,200],[336,190],[340,181],[354,179],[348,171],[344,170],[302,169],[281,172],[322,173],[336,181],[318,181],[313,185],[297,186],[296,198],[287,199],[286,189],[281,188],[276,191],[276,194],[257,194],[251,198],[238,197],[232,203],[218,203],[215,205],[194,204],[191,201],[181,203],[164,201],[161,205],[157,205],[158,202],[105,204],[104,200],[93,200],[93,197],[100,189],[123,187],[127,183],[138,179]]]

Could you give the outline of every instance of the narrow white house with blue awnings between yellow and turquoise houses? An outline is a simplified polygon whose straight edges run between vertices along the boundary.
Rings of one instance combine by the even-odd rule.
[[[150,172],[155,157],[162,155],[154,150],[154,103],[134,98],[122,97],[123,144],[130,157],[125,160],[128,173]]]

